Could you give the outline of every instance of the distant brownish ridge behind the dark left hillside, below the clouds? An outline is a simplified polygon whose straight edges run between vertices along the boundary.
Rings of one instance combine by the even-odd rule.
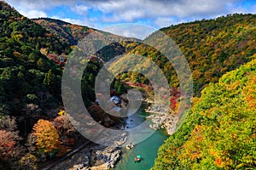
[[[68,42],[71,46],[77,45],[79,41],[82,42],[83,38],[92,32],[94,32],[95,38],[97,38],[99,42],[102,42],[103,44],[108,43],[106,37],[108,37],[108,39],[116,41],[114,43],[111,43],[109,46],[102,48],[96,53],[96,56],[102,58],[102,60],[104,61],[113,59],[113,57],[116,55],[127,53],[131,49],[131,44],[133,44],[133,42],[137,40],[136,38],[125,38],[130,42],[121,42],[124,37],[120,37],[106,31],[89,28],[87,26],[70,24],[62,20],[40,18],[33,19],[33,21],[46,28],[48,31],[52,32],[55,37],[59,37],[61,41]],[[91,42],[87,42],[84,45],[86,45],[87,47],[93,47],[93,44]]]

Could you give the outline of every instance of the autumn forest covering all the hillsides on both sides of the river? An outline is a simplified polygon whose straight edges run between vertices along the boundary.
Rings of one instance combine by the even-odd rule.
[[[179,93],[172,63],[135,38],[122,41],[108,32],[61,20],[29,20],[4,2],[0,15],[0,169],[37,169],[84,142],[64,110],[61,75],[79,40],[91,32],[102,42],[106,35],[120,40],[94,56],[84,56],[88,65],[82,95],[97,122],[106,127],[117,122],[112,116],[104,121],[108,114],[95,104],[94,92],[98,71],[116,55],[148,57],[164,72],[172,91]],[[255,14],[229,14],[160,29],[188,60],[195,97],[184,123],[160,147],[153,169],[256,167],[255,23]],[[147,77],[125,72],[113,81],[117,95],[125,92],[123,82],[150,85]],[[172,98],[172,106],[177,102],[178,97]]]

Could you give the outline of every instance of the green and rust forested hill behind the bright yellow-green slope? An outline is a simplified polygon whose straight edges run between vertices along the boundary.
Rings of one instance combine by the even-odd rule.
[[[251,60],[256,53],[256,14],[232,14],[160,29],[172,38],[189,62],[195,95],[209,82],[218,82],[226,71]],[[154,33],[149,36],[154,37]],[[165,46],[163,39],[162,44]],[[169,49],[171,50],[171,49]],[[131,53],[154,60],[165,72],[171,85],[178,87],[172,63],[152,48],[141,44]]]

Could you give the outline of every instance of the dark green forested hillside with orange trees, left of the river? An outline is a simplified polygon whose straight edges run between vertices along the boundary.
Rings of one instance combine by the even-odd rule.
[[[0,169],[36,169],[84,141],[63,110],[61,75],[79,38],[75,33],[86,35],[91,29],[75,29],[72,38],[61,31],[56,35],[3,2],[0,15]],[[82,89],[85,105],[104,123],[108,115],[91,103],[91,82],[101,66],[100,59],[89,61]]]

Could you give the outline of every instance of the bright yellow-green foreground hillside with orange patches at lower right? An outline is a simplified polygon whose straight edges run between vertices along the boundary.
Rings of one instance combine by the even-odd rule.
[[[255,108],[253,59],[194,99],[186,121],[160,147],[152,169],[254,169]]]

